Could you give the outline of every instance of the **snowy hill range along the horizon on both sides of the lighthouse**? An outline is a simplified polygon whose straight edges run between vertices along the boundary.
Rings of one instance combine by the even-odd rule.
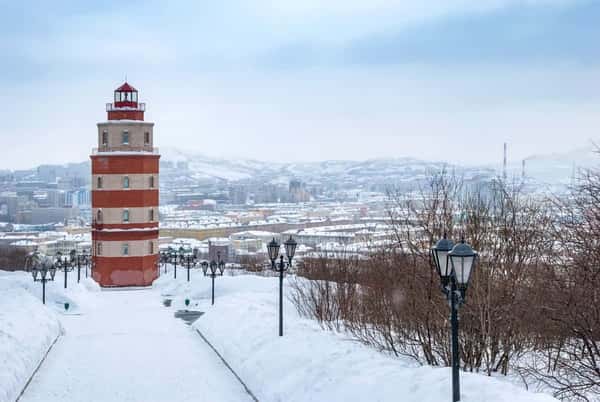
[[[600,144],[600,141],[596,142]],[[589,143],[561,153],[531,155],[525,159],[525,179],[532,189],[564,188],[572,182],[580,169],[600,168],[597,147]],[[267,162],[240,158],[216,158],[195,151],[171,147],[160,149],[162,173],[165,177],[185,177],[187,182],[198,181],[251,181],[253,183],[289,184],[296,178],[307,184],[336,189],[371,187],[382,190],[389,185],[403,186],[427,178],[442,168],[456,170],[467,179],[486,180],[502,174],[501,161],[482,166],[452,166],[439,161],[416,158],[369,159],[363,161],[327,160],[319,162]],[[509,155],[510,161],[510,155]],[[166,168],[166,169],[165,169]],[[38,175],[43,180],[55,177],[79,177],[89,180],[89,161],[79,164],[40,165],[20,175]],[[508,165],[509,178],[520,180],[521,161]]]

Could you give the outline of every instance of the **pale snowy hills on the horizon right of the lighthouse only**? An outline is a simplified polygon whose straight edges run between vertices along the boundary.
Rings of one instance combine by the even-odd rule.
[[[444,162],[416,158],[370,159],[365,161],[328,160],[322,162],[265,162],[249,159],[223,159],[174,148],[161,149],[163,161],[183,163],[192,177],[226,181],[264,180],[271,184],[289,183],[299,178],[311,183],[402,184],[419,180],[446,166],[466,177],[492,177],[502,173],[500,164],[487,166],[448,166]],[[181,165],[180,165],[181,166]],[[532,184],[563,186],[581,168],[600,166],[600,155],[593,144],[548,155],[532,155],[525,159],[525,177]],[[508,166],[510,177],[521,177],[521,161]]]

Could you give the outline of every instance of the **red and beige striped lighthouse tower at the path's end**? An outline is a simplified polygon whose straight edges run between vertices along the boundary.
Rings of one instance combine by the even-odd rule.
[[[127,82],[106,104],[92,155],[92,272],[103,287],[158,276],[158,150],[146,104]]]

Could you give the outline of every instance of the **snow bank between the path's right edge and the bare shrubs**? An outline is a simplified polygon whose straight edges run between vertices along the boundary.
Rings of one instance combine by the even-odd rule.
[[[412,361],[382,354],[343,334],[324,331],[284,304],[284,337],[278,330],[278,279],[252,275],[218,277],[215,305],[210,278],[193,272],[164,275],[155,282],[173,308],[204,311],[194,327],[246,382],[261,402],[449,400],[450,369],[418,367]],[[289,289],[285,289],[289,292]],[[463,402],[549,402],[516,385],[479,374],[461,373]]]

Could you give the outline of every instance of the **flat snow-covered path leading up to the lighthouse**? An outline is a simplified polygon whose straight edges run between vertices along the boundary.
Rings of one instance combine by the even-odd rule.
[[[103,291],[65,334],[21,402],[211,401],[251,398],[154,290]]]

